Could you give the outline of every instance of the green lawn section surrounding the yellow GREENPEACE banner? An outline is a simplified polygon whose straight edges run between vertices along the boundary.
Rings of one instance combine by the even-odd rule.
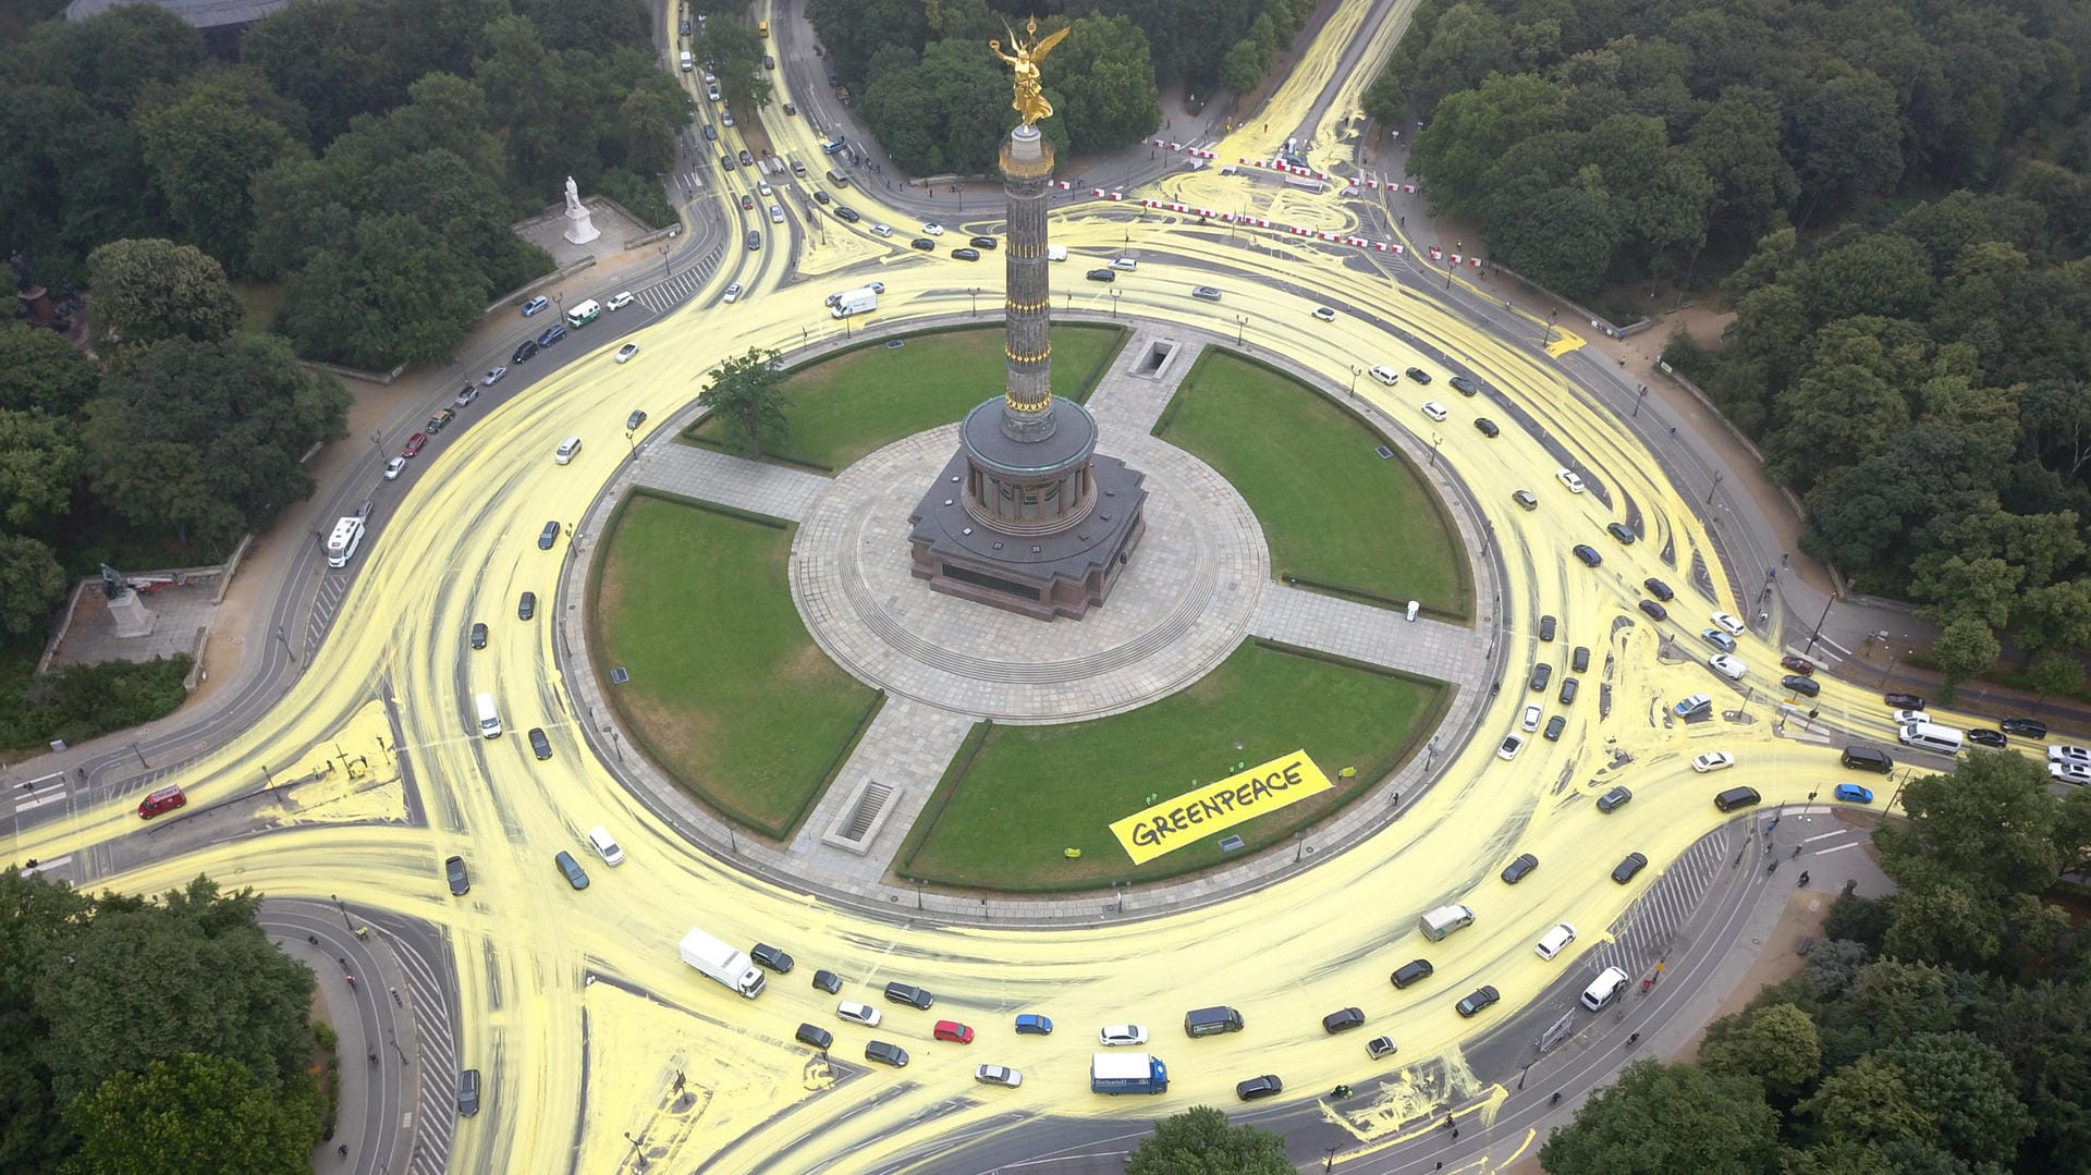
[[[1156,880],[1240,857],[1326,820],[1391,769],[1439,717],[1443,686],[1244,644],[1202,682],[1154,705],[1069,725],[997,725],[962,778],[953,765],[901,849],[903,876],[997,891]],[[1234,744],[1242,748],[1236,751]],[[1290,751],[1334,790],[1133,868],[1110,822]],[[1357,778],[1338,776],[1357,767]],[[1066,859],[1062,849],[1081,849]]]

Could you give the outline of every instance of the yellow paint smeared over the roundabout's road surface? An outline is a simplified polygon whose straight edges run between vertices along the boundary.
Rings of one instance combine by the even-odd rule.
[[[1328,67],[1317,63],[1334,59],[1357,8],[1338,6],[1322,44],[1273,98],[1269,125],[1292,125],[1322,92]],[[1355,109],[1357,86],[1342,92],[1330,119]],[[767,128],[780,151],[822,171],[805,119],[769,117]],[[738,134],[728,132],[721,146],[738,148]],[[1221,155],[1267,155],[1269,146],[1244,128]],[[742,182],[753,188],[755,180],[736,171],[726,190],[711,192],[730,203],[730,220],[740,215]],[[1278,192],[1211,169],[1158,190],[1273,220],[1355,224],[1334,192]],[[629,1152],[625,1133],[642,1131],[657,1162],[675,1171],[707,1162],[707,1171],[721,1173],[884,1169],[926,1160],[941,1137],[991,1137],[1035,1114],[1135,1123],[1192,1104],[1232,1106],[1232,1085],[1259,1073],[1282,1075],[1288,1098],[1338,1081],[1363,1085],[1374,1077],[1363,1039],[1380,1033],[1401,1045],[1380,1070],[1397,1079],[1374,1098],[1345,1102],[1340,1112],[1326,1108],[1332,1121],[1370,1142],[1397,1137],[1403,1123],[1447,1102],[1483,1104],[1478,1112],[1487,1114],[1501,1089],[1466,1068],[1462,1041],[1514,1014],[1595,949],[1604,926],[1656,882],[1664,863],[1725,820],[1713,809],[1715,790],[1752,784],[1767,803],[1828,794],[1838,782],[1836,746],[1846,742],[1832,725],[1892,744],[1878,694],[1840,682],[1825,682],[1817,702],[1821,734],[1794,721],[1777,736],[1777,698],[1767,696],[1777,688],[1777,652],[1756,636],[1740,648],[1750,665],[1742,686],[1754,688],[1748,702],[1704,667],[1710,648],[1696,631],[1713,606],[1692,602],[1692,558],[1708,565],[1719,610],[1748,617],[1756,608],[1729,596],[1700,519],[1654,460],[1529,339],[1506,343],[1447,314],[1430,289],[1411,284],[1414,270],[1391,278],[1384,255],[1083,203],[1052,224],[1054,240],[1073,251],[1054,270],[1056,309],[1115,307],[1121,316],[1240,335],[1253,353],[1301,376],[1355,387],[1395,424],[1434,445],[1439,460],[1472,487],[1512,583],[1501,602],[1512,633],[1499,650],[1506,684],[1501,696],[1483,698],[1489,713],[1480,736],[1443,763],[1437,786],[1405,805],[1397,824],[1359,849],[1253,897],[1129,926],[1027,932],[876,922],[692,851],[585,753],[552,650],[554,608],[575,606],[554,600],[571,533],[552,552],[537,550],[535,537],[548,519],[579,519],[613,477],[625,458],[619,433],[627,412],[644,408],[648,429],[661,427],[721,358],[751,345],[788,351],[834,335],[838,324],[822,307],[830,289],[870,276],[887,282],[878,309],[853,328],[966,314],[974,289],[981,320],[989,322],[1002,295],[999,257],[951,259],[949,249],[966,234],[966,224],[953,222],[935,255],[916,253],[905,247],[916,217],[874,201],[853,190],[847,203],[866,222],[826,217],[826,243],[803,261],[803,270],[834,274],[832,282],[784,284],[784,232],[803,243],[803,220],[797,197],[780,197],[790,224],[772,226],[761,215],[767,245],[759,253],[730,240],[709,289],[634,337],[642,343],[634,362],[613,364],[611,347],[573,360],[592,343],[588,330],[575,332],[560,370],[475,420],[433,458],[435,468],[424,470],[383,537],[364,544],[360,575],[326,644],[280,705],[169,780],[190,790],[190,811],[176,817],[184,820],[251,792],[268,765],[280,786],[259,811],[274,832],[105,878],[153,893],[205,872],[274,897],[341,895],[358,907],[439,926],[462,995],[460,1064],[487,1075],[485,1110],[456,1129],[452,1171],[611,1171]],[[983,209],[979,224],[997,220]],[[872,236],[872,222],[891,224],[897,236]],[[1081,278],[1125,249],[1142,257],[1138,272],[1119,274],[1110,286]],[[732,280],[749,293],[721,305],[717,295]],[[1223,301],[1192,301],[1194,284],[1219,286]],[[1336,320],[1311,318],[1315,305],[1338,307]],[[1491,395],[1451,391],[1449,372],[1428,351],[1462,355]],[[1380,387],[1357,374],[1372,364],[1420,366],[1437,381],[1428,389],[1409,378]],[[993,391],[983,389],[983,397]],[[1428,420],[1424,399],[1443,404],[1449,418]],[[1476,414],[1491,416],[1503,435],[1483,437],[1472,427]],[[588,445],[573,464],[556,466],[552,447],[569,433]],[[1554,479],[1564,456],[1606,489],[1610,506]],[[1537,493],[1537,510],[1512,502],[1520,487]],[[1629,504],[1641,542],[1623,548],[1604,525],[1625,519]],[[1595,546],[1604,565],[1575,562],[1572,544]],[[1671,656],[1658,654],[1658,625],[1635,610],[1650,575],[1681,592],[1671,604],[1673,623],[1660,625],[1677,636]],[[516,619],[521,592],[539,596],[533,621]],[[1535,638],[1539,615],[1560,617],[1552,644]],[[491,627],[479,652],[464,640],[475,621]],[[1524,688],[1535,661],[1554,665],[1558,686],[1579,644],[1593,650],[1593,661],[1575,705],[1560,705],[1554,688]],[[1604,719],[1600,686],[1610,688],[1612,702]],[[1717,698],[1719,711],[1744,711],[1746,719],[1667,721],[1669,702],[1700,690]],[[475,734],[477,692],[500,700],[504,738]],[[1499,738],[1529,702],[1547,717],[1566,715],[1566,732],[1558,742],[1531,736],[1514,761],[1497,759]],[[374,746],[376,736],[389,738],[391,723],[427,828],[404,824],[399,761],[374,757],[358,778],[337,771],[291,782],[324,769],[337,742]],[[550,734],[554,757],[546,763],[533,761],[523,738],[533,725]],[[1729,751],[1740,763],[1698,776],[1690,759],[1704,751]],[[1591,801],[1612,784],[1631,786],[1635,799],[1600,815]],[[583,836],[596,824],[623,843],[621,868],[588,853]],[[128,807],[107,807],[44,826],[21,853],[56,857],[136,832]],[[552,868],[560,849],[581,857],[594,880],[588,891],[571,891]],[[1654,866],[1618,886],[1608,874],[1629,851]],[[441,861],[452,853],[473,870],[464,899],[452,899],[443,884]],[[1497,872],[1516,853],[1537,853],[1541,868],[1524,884],[1506,886]],[[1418,914],[1447,901],[1472,905],[1476,924],[1443,943],[1424,941]],[[1533,941],[1564,918],[1581,939],[1562,958],[1541,962]],[[797,955],[799,970],[774,976],[757,1001],[734,997],[677,960],[675,943],[692,924],[742,947],[778,943]],[[1393,989],[1388,972],[1411,958],[1432,960],[1437,974]],[[878,1006],[884,1024],[874,1031],[838,1020],[834,997],[807,985],[813,968],[843,974],[843,997]],[[887,981],[933,989],[937,1008],[884,1004],[878,989]],[[1455,1016],[1453,1001],[1483,983],[1499,987],[1503,1004],[1476,1020]],[[1177,1029],[1184,1012],[1207,1004],[1240,1008],[1248,1031],[1186,1041]],[[1370,1016],[1368,1027],[1326,1037],[1319,1016],[1353,1004]],[[1058,1033],[1016,1037],[1016,1012],[1050,1014]],[[979,1039],[937,1043],[937,1018],[966,1020]],[[792,1043],[801,1020],[834,1031],[841,1073]],[[1152,1052],[1171,1064],[1165,1098],[1089,1093],[1096,1029],[1121,1020],[1152,1031]],[[914,1062],[905,1070],[866,1066],[859,1058],[868,1039],[895,1041]],[[1020,1068],[1022,1087],[976,1085],[972,1066],[983,1062]],[[686,1075],[688,1100],[671,1096],[677,1073]]]

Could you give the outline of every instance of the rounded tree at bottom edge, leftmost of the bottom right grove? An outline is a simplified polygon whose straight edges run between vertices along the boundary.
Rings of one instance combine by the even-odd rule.
[[[1641,1060],[1539,1148],[1552,1175],[1769,1171],[1777,1114],[1752,1077]]]

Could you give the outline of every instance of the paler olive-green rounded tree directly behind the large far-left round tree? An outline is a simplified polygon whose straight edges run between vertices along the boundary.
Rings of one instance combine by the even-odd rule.
[[[247,316],[226,268],[194,245],[111,240],[88,253],[88,280],[98,347],[151,347],[161,339],[213,343],[230,337]]]

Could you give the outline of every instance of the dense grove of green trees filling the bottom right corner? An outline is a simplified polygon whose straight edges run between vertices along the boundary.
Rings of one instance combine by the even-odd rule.
[[[1899,891],[1842,897],[1792,981],[1717,1020],[1696,1062],[1629,1066],[1554,1133],[1554,1175],[2085,1171],[2091,792],[1974,751],[1874,834]]]

